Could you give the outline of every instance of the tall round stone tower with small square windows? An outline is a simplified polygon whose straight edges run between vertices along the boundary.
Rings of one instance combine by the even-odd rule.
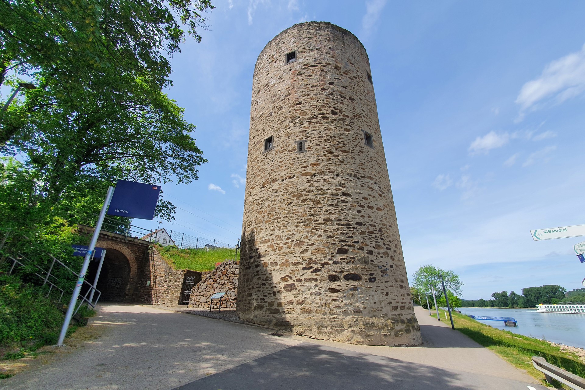
[[[252,83],[242,320],[318,339],[421,343],[366,50],[326,22],[261,51]]]

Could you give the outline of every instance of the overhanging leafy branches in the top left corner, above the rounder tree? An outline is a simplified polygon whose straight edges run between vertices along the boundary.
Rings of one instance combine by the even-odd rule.
[[[76,83],[118,71],[168,85],[169,56],[185,36],[201,40],[209,0],[2,0],[0,85],[6,72],[42,69]]]

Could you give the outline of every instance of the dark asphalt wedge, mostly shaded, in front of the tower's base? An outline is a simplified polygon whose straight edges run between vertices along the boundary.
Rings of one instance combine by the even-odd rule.
[[[178,387],[232,389],[526,389],[501,378],[302,343]]]

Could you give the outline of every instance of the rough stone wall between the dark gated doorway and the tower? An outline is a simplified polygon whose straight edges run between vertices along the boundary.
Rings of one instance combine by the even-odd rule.
[[[191,304],[195,308],[209,308],[209,297],[216,292],[225,292],[221,300],[222,308],[235,308],[238,295],[239,261],[224,261],[215,270],[201,272],[201,282],[191,291]],[[217,301],[213,308],[218,308]]]

